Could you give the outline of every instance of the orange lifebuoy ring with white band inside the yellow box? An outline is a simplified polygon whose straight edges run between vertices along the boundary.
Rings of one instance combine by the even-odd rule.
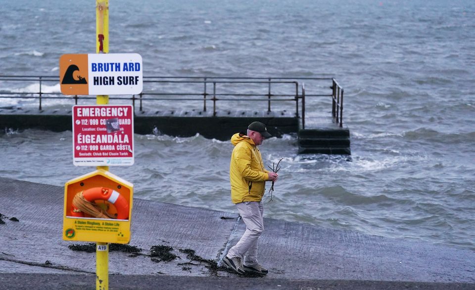
[[[115,190],[106,187],[93,187],[84,191],[80,191],[76,194],[76,196],[82,196],[86,201],[90,203],[94,203],[96,200],[107,201],[114,205],[117,209],[117,219],[128,219],[129,218],[129,204],[125,200],[125,198],[120,195]],[[76,198],[76,197],[75,197]],[[84,217],[83,210],[79,209],[77,206],[71,206],[71,215],[77,217]],[[104,217],[104,216],[99,216]],[[105,217],[109,218],[109,217]]]

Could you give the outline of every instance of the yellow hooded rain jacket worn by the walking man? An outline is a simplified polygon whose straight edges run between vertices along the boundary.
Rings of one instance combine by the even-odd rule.
[[[235,146],[229,166],[231,201],[234,204],[260,202],[269,179],[261,153],[254,141],[242,133],[234,134],[231,143]]]

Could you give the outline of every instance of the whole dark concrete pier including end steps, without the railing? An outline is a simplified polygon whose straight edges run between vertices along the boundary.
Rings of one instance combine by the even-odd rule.
[[[294,113],[258,111],[154,110],[137,111],[134,131],[137,134],[166,134],[190,137],[199,133],[205,138],[226,141],[248,124],[260,121],[276,137],[284,134],[298,135],[299,154],[345,154],[350,155],[350,132],[340,128],[331,119],[320,118],[319,123],[302,129],[300,118]],[[310,122],[308,122],[310,123]],[[70,109],[22,109],[0,108],[0,128],[38,128],[52,131],[72,130]]]

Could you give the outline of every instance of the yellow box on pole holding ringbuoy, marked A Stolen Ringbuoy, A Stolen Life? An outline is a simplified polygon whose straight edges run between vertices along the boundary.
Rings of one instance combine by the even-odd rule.
[[[103,169],[64,185],[63,240],[130,242],[132,183]]]

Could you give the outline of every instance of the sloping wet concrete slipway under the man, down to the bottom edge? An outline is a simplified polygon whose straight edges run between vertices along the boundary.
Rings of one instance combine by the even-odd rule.
[[[62,187],[0,177],[0,289],[95,289],[95,253],[62,240],[63,195]],[[171,246],[178,258],[111,251],[109,288],[475,289],[473,251],[269,218],[259,244],[266,277],[212,271],[180,251],[219,261],[244,229],[236,213],[135,199],[129,245],[144,254]]]

